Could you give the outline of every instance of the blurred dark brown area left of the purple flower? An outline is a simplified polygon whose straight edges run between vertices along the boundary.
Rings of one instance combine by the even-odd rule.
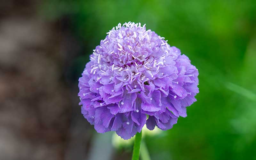
[[[65,66],[79,46],[60,21],[40,18],[38,5],[33,0],[0,4],[1,160],[65,159],[72,140],[77,86],[68,84]]]

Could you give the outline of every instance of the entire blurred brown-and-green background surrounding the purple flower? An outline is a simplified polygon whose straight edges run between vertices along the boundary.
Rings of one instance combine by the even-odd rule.
[[[188,117],[144,137],[151,159],[256,160],[254,0],[9,0],[0,10],[1,160],[131,159],[132,145],[96,133],[77,97],[92,49],[128,21],[199,70]]]

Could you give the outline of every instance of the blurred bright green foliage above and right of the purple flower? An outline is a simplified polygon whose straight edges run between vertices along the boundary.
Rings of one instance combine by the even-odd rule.
[[[66,0],[48,1],[42,11],[48,19],[68,17],[84,45],[69,75],[76,80],[106,32],[128,21],[146,23],[198,68],[200,93],[188,117],[146,137],[152,160],[256,159],[254,0]]]

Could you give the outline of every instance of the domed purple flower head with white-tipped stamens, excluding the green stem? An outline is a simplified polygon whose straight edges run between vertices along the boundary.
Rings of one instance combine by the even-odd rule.
[[[127,140],[145,124],[167,130],[186,117],[199,92],[188,57],[140,23],[119,23],[107,34],[78,84],[82,114],[95,130]]]

